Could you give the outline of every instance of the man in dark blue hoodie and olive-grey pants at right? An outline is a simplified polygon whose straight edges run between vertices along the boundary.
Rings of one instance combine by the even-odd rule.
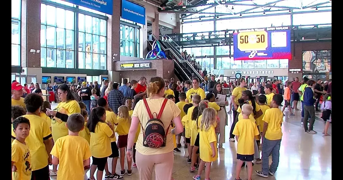
[[[312,88],[315,87],[316,82],[313,80],[309,80],[307,82],[307,87],[304,91],[304,129],[306,133],[317,134],[316,131],[313,130],[313,124],[315,123],[315,107],[313,106],[316,100],[313,98],[313,90]],[[310,118],[309,118],[310,116]],[[307,121],[310,119],[309,126],[307,127]]]

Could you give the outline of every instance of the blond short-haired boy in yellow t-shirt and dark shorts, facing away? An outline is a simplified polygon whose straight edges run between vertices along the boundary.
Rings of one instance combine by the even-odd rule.
[[[244,161],[248,166],[248,180],[251,180],[252,175],[252,161],[254,160],[254,143],[255,139],[258,139],[260,132],[257,129],[256,123],[249,119],[249,115],[252,113],[253,107],[249,104],[242,106],[243,119],[239,120],[234,128],[233,134],[236,136],[237,141],[237,167],[236,167],[236,180],[239,178],[241,166]],[[268,163],[268,161],[267,161]]]

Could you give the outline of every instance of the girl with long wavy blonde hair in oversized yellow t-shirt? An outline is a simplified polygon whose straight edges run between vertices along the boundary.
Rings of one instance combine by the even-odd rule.
[[[201,105],[200,105],[201,106]],[[200,107],[199,106],[199,107]],[[210,179],[211,163],[218,158],[217,153],[217,138],[214,129],[216,123],[216,111],[213,108],[205,108],[200,122],[199,144],[200,144],[200,163],[198,175],[193,176],[193,179],[200,180],[201,172],[206,164],[205,180]],[[209,168],[208,168],[209,167]]]

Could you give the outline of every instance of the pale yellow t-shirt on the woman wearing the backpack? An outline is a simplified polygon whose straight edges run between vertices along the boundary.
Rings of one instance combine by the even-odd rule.
[[[161,109],[162,103],[165,98],[158,98],[158,99],[150,99],[146,98],[147,104],[150,108],[151,113],[158,113]],[[161,115],[161,121],[164,124],[165,131],[167,131],[167,128],[170,124],[170,121],[174,118],[178,117],[180,115],[180,109],[176,106],[176,104],[171,101],[170,99],[167,100],[166,106],[163,110],[163,113]],[[140,120],[140,123],[142,124],[143,128],[145,128],[146,122],[150,119],[149,115],[146,111],[146,108],[144,106],[143,100],[139,101],[137,105],[135,106],[133,110],[132,116],[138,117]],[[155,117],[155,116],[154,116]],[[173,135],[171,134],[171,129],[169,127],[169,131],[167,133],[167,140],[166,140],[166,146],[163,148],[150,148],[150,147],[144,147],[143,146],[143,132],[142,129],[140,130],[138,140],[136,143],[136,150],[142,154],[142,155],[156,155],[156,154],[164,154],[169,153],[173,151],[174,144],[173,144]]]

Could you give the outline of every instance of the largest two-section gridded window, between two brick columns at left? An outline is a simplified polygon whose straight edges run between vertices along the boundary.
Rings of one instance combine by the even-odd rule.
[[[106,70],[107,21],[72,9],[41,4],[41,67]]]

